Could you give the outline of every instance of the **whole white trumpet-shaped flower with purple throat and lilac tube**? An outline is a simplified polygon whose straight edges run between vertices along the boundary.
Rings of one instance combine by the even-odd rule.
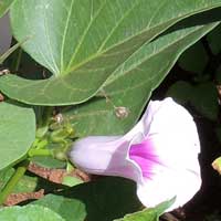
[[[77,140],[70,159],[88,173],[119,176],[137,183],[146,207],[176,197],[173,210],[201,186],[200,144],[191,115],[171,98],[150,102],[144,116],[124,136],[90,136]]]

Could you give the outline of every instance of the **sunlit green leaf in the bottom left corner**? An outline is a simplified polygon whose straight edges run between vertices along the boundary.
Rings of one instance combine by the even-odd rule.
[[[57,213],[53,212],[49,208],[40,206],[27,206],[27,207],[10,207],[0,209],[0,220],[2,221],[65,221]]]

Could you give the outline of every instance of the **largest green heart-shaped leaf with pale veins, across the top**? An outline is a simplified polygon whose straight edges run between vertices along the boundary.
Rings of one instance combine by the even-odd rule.
[[[23,49],[54,77],[6,75],[0,88],[28,104],[85,102],[144,43],[183,18],[220,6],[220,0],[17,0],[14,36],[30,36]]]

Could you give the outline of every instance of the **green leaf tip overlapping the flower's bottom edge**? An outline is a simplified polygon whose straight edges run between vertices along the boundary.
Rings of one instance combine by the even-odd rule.
[[[123,219],[117,219],[114,221],[159,221],[159,217],[173,203],[173,201],[175,199],[162,202],[151,209],[145,209],[140,212],[127,214]]]

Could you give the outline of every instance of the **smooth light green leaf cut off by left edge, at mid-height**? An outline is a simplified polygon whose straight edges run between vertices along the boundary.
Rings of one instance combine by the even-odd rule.
[[[15,162],[29,150],[35,137],[32,108],[0,103],[0,170]]]

